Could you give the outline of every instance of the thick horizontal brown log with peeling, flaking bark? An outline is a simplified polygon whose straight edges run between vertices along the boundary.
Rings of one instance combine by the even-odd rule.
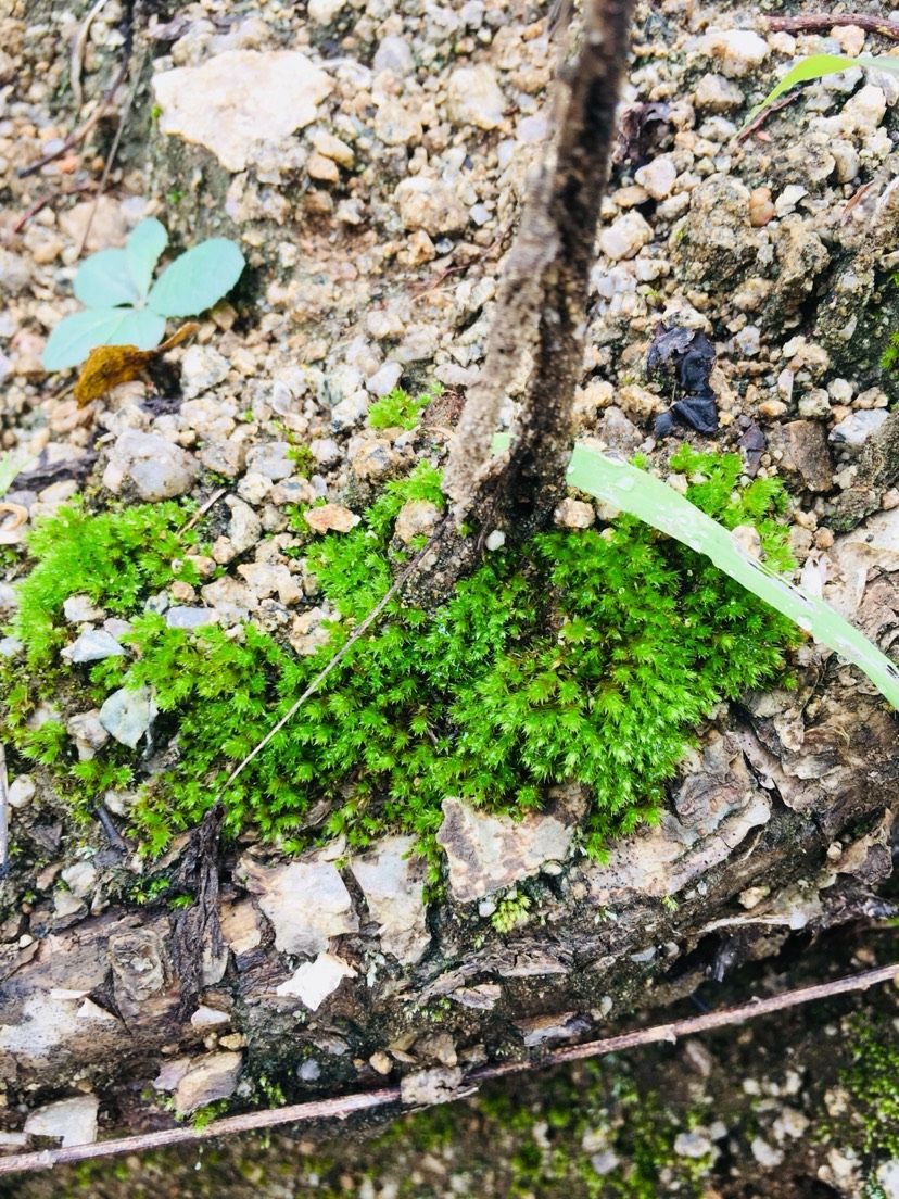
[[[893,619],[895,588],[870,590],[859,619]],[[330,942],[355,977],[316,1010],[278,990],[296,959],[274,944],[258,906],[265,894],[248,894],[241,848],[225,846],[218,903],[228,952],[203,960],[198,996],[229,1014],[219,1048],[239,1047],[249,1079],[265,1072],[296,1080],[297,1064],[313,1055],[321,1064],[316,1092],[346,1095],[378,1084],[366,1064],[388,1047],[402,1049],[388,1059],[393,1081],[427,1067],[435,1032],[428,1013],[438,1004],[436,1029],[460,1060],[488,1047],[488,1066],[527,1061],[529,1044],[539,1043],[527,1037],[545,1025],[559,1026],[556,1043],[604,1037],[632,1023],[626,1013],[690,994],[722,963],[776,951],[797,924],[815,932],[888,912],[871,888],[891,864],[894,713],[832,661],[807,671],[798,700],[783,703],[795,707],[774,711],[765,699],[758,715],[734,709],[706,733],[695,772],[672,793],[676,818],[615,846],[605,866],[569,861],[551,886],[535,876],[541,920],[513,934],[478,920],[476,902],[435,903],[427,948],[404,963],[379,948],[378,921],[356,898],[357,917]],[[277,867],[277,855],[270,860]],[[675,905],[663,902],[670,891]],[[43,904],[30,927],[46,935],[24,946],[13,939],[0,957],[5,1126],[19,1126],[17,1103],[34,1108],[76,1085],[98,1097],[110,1131],[169,1123],[152,1099],[135,1108],[134,1096],[155,1093],[165,1062],[204,1061],[216,1047],[192,1023],[194,1004],[182,1002],[192,982],[177,950],[181,914],[164,902],[119,904],[54,924],[52,902]],[[302,910],[300,894],[297,904]],[[235,933],[235,912],[254,914],[252,939]],[[288,1091],[301,1097],[302,1087]]]

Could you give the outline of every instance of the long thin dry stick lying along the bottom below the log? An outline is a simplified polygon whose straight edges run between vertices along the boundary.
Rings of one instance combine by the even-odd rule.
[[[712,1029],[723,1029],[735,1024],[744,1024],[747,1020],[754,1020],[759,1016],[783,1012],[789,1007],[797,1007],[801,1004],[809,1004],[817,999],[831,999],[834,995],[867,990],[869,987],[889,982],[897,977],[899,977],[899,963],[881,966],[877,970],[867,970],[864,974],[849,975],[845,978],[835,978],[833,982],[817,983],[814,987],[801,987],[797,990],[788,990],[783,995],[772,995],[770,999],[753,1000],[749,1004],[743,1004],[741,1007],[725,1007],[720,1012],[706,1012],[702,1016],[693,1016],[686,1020],[672,1020],[670,1024],[656,1024],[648,1029],[635,1029],[633,1032],[622,1032],[619,1036],[604,1037],[601,1041],[587,1041],[580,1046],[551,1049],[539,1061],[513,1061],[502,1062],[496,1066],[482,1066],[479,1070],[475,1070],[467,1074],[461,1080],[460,1087],[477,1086],[481,1083],[503,1078],[507,1074],[518,1074],[531,1070],[542,1070],[548,1066],[561,1066],[566,1062],[601,1058],[605,1054],[619,1053],[622,1049],[634,1049],[638,1046],[676,1042],[678,1037],[708,1032]],[[458,1096],[450,1095],[445,1102],[451,1102],[455,1097]],[[168,1145],[194,1144],[195,1141],[209,1140],[212,1137],[253,1132],[259,1128],[274,1128],[278,1125],[285,1123],[302,1123],[310,1120],[346,1120],[348,1116],[354,1115],[356,1111],[367,1111],[372,1108],[385,1107],[391,1103],[398,1103],[400,1099],[402,1091],[398,1086],[386,1086],[378,1091],[344,1095],[334,1099],[316,1099],[312,1103],[296,1103],[291,1107],[272,1108],[267,1111],[249,1111],[240,1116],[227,1116],[223,1120],[213,1120],[204,1128],[164,1128],[159,1132],[143,1133],[137,1137],[120,1137],[115,1140],[103,1140],[91,1145],[71,1145],[68,1149],[47,1149],[34,1153],[16,1153],[12,1157],[0,1157],[0,1174],[13,1174],[19,1170],[41,1170],[64,1163],[84,1162],[89,1158],[111,1157],[121,1153],[134,1153],[147,1149],[162,1149]]]

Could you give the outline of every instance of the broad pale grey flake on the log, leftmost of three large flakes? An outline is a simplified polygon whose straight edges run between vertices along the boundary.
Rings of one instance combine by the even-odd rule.
[[[318,957],[332,936],[358,930],[350,892],[333,862],[266,867],[245,856],[240,869],[274,928],[279,952]]]

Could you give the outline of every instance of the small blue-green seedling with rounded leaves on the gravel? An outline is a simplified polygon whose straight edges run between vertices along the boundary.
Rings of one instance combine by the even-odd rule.
[[[150,217],[131,231],[125,249],[101,249],[84,260],[74,294],[85,309],[65,317],[53,330],[43,351],[44,369],[76,367],[98,345],[152,350],[162,342],[169,317],[206,312],[240,278],[241,251],[227,237],[211,237],[176,258],[152,283],[168,241],[165,227]]]

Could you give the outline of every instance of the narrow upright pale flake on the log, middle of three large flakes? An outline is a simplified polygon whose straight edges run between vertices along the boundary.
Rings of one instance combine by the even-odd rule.
[[[415,837],[387,837],[350,862],[372,917],[380,928],[381,947],[398,962],[417,962],[430,933],[423,898],[424,860],[412,855]]]

